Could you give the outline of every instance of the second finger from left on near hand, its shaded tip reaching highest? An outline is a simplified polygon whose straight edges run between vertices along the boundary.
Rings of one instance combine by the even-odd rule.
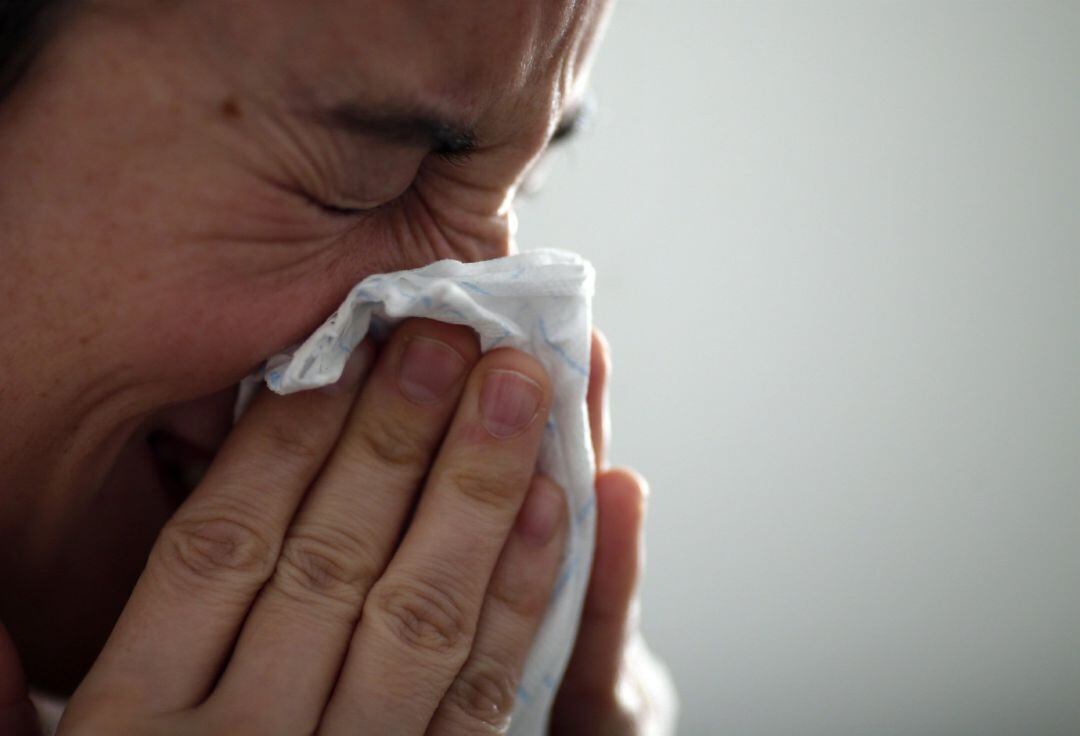
[[[364,598],[401,538],[478,359],[468,327],[410,320],[394,333],[285,537],[208,710],[245,712],[262,733],[314,731]]]

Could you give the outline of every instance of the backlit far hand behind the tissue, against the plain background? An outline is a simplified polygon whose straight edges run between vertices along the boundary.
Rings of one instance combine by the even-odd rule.
[[[589,417],[596,455],[596,550],[578,639],[552,710],[551,732],[632,736],[674,733],[675,691],[637,618],[648,485],[608,467],[610,351],[593,334]]]

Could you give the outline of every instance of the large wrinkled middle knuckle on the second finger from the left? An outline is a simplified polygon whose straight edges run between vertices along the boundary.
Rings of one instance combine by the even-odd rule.
[[[278,587],[303,602],[337,601],[359,607],[378,575],[367,543],[339,527],[307,530],[285,540]]]

